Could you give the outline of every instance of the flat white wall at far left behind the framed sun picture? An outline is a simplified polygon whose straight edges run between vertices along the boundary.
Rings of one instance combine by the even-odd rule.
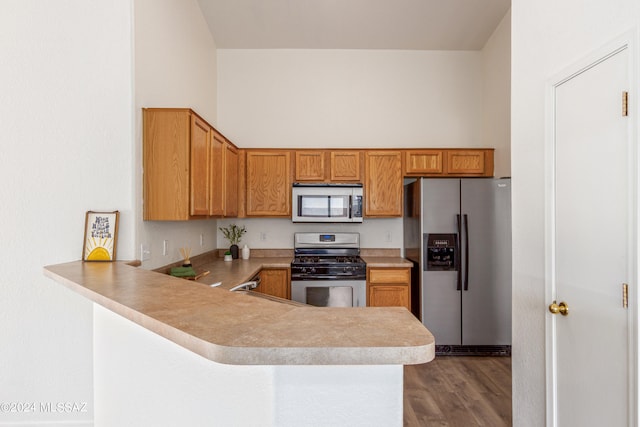
[[[35,412],[0,424],[92,421],[91,303],[42,267],[80,259],[87,210],[120,210],[134,256],[131,19],[130,1],[2,2],[0,402]]]

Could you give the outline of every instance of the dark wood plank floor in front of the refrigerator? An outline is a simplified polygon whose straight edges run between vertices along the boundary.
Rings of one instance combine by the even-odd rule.
[[[511,426],[511,358],[436,356],[405,366],[404,426]]]

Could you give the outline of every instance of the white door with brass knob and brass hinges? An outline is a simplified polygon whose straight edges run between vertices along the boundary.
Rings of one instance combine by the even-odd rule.
[[[627,426],[630,325],[623,284],[634,277],[629,49],[593,61],[553,87],[548,289],[568,315],[547,312],[549,424]]]

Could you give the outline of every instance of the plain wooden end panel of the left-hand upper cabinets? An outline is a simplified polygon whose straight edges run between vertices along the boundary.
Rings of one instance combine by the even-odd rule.
[[[145,221],[189,219],[189,110],[143,110]]]

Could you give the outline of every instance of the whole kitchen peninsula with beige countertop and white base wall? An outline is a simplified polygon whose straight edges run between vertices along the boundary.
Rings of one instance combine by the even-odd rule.
[[[402,366],[434,357],[403,308],[280,304],[122,262],[44,271],[94,303],[96,424],[400,426]]]

